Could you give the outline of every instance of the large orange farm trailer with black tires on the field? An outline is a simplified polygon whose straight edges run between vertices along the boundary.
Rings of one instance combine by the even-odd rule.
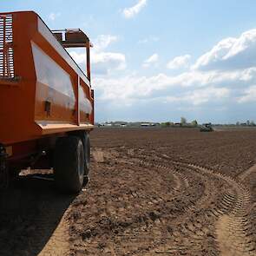
[[[77,47],[86,75],[66,50]],[[33,11],[0,13],[0,188],[31,167],[53,168],[63,191],[82,189],[94,127],[90,47],[82,30],[51,31]]]

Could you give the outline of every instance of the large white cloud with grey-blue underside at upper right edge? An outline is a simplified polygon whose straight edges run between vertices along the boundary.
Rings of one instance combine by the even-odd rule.
[[[232,70],[256,67],[256,30],[239,37],[228,37],[217,43],[195,62],[193,69]]]

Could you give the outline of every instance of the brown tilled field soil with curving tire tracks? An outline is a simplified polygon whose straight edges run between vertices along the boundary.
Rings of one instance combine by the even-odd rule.
[[[82,193],[23,172],[0,255],[256,255],[256,130],[96,128]]]

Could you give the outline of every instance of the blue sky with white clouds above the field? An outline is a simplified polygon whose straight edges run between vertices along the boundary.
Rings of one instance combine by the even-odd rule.
[[[96,121],[256,121],[256,1],[16,0],[94,43]],[[83,67],[84,54],[70,54]]]

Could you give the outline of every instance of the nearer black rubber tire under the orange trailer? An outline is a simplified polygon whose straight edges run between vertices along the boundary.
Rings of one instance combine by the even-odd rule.
[[[76,194],[82,190],[85,171],[82,140],[76,136],[56,141],[54,175],[56,187],[62,192]]]

